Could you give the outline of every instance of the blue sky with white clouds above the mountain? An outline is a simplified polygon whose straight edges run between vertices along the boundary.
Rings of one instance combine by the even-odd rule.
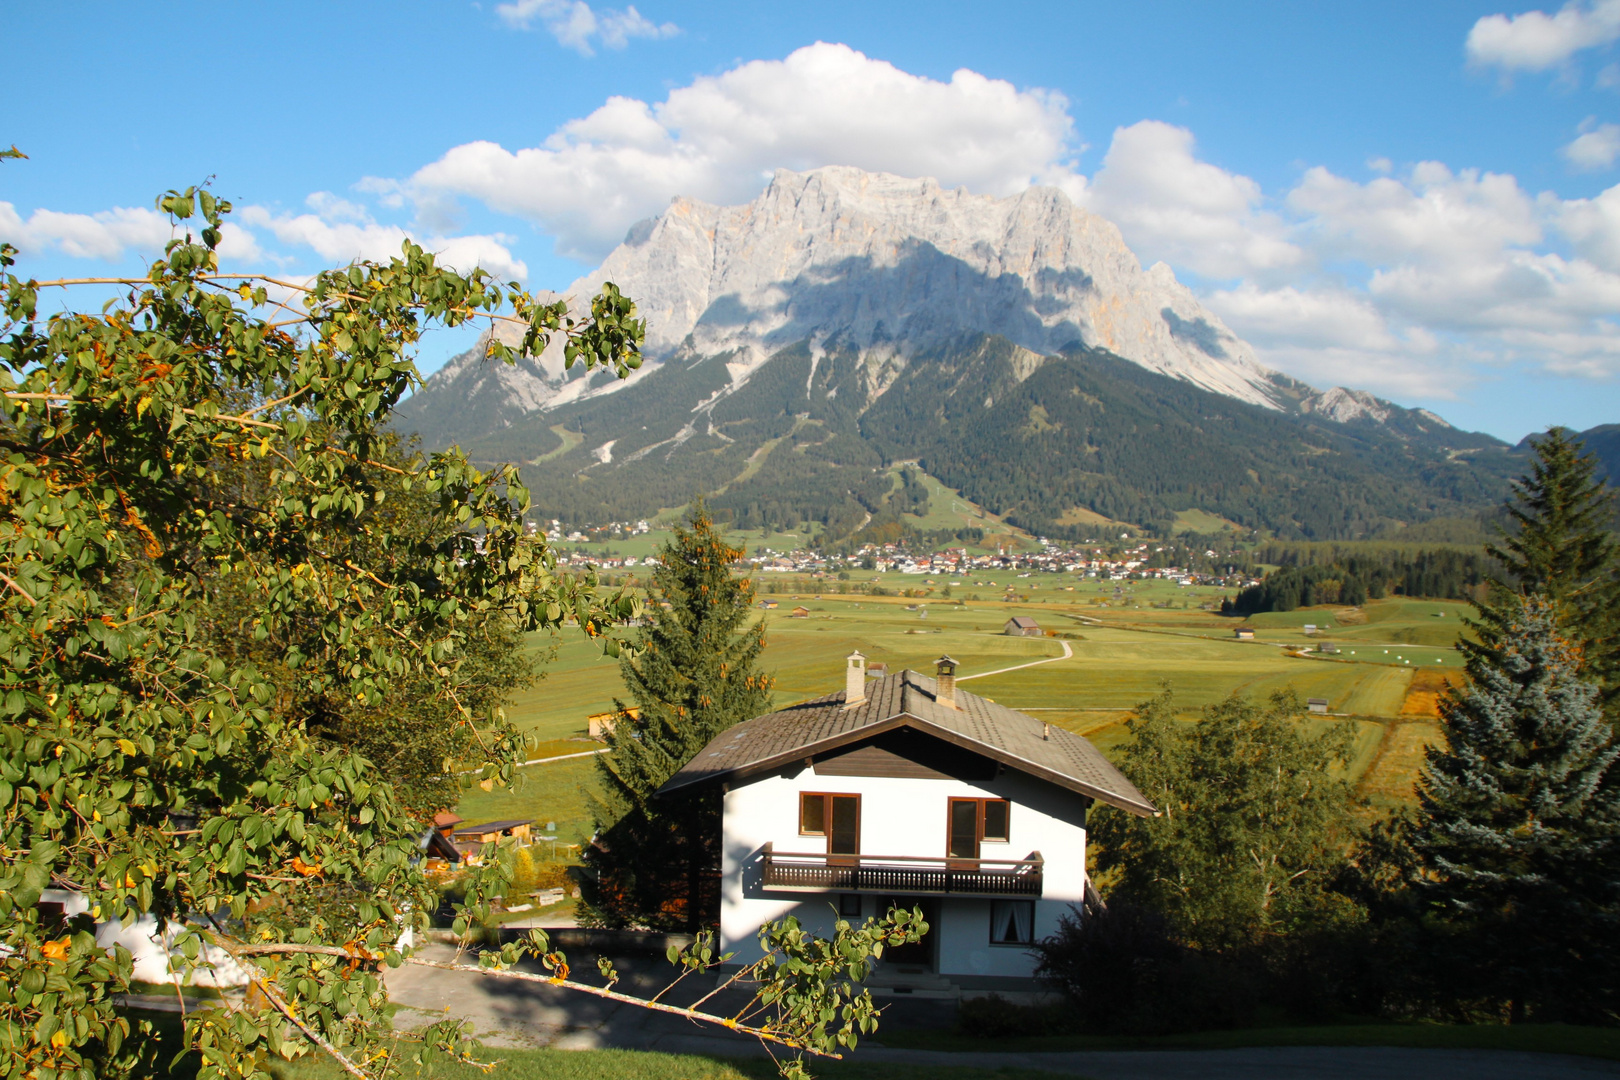
[[[63,2],[0,37],[0,238],[42,277],[138,269],[152,196],[214,176],[238,267],[410,232],[561,288],[674,194],[852,164],[1055,183],[1317,385],[1620,421],[1620,0]]]

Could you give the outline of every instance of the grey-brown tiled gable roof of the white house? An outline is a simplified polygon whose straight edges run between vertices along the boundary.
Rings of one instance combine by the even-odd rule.
[[[744,721],[710,742],[659,790],[757,776],[883,730],[912,727],[1110,806],[1153,813],[1142,792],[1079,735],[1059,727],[1047,733],[1034,716],[961,687],[956,704],[953,709],[935,701],[935,680],[907,669],[867,683],[867,699],[850,709],[839,691]]]

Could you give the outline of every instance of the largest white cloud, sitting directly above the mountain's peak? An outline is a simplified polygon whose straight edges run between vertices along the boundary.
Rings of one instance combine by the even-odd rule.
[[[418,170],[408,189],[418,212],[444,196],[471,196],[590,261],[672,196],[737,202],[774,168],[857,165],[993,194],[1043,178],[1079,193],[1071,136],[1059,94],[967,70],[940,83],[818,42],[700,76],[663,102],[612,97],[541,146],[457,146]]]

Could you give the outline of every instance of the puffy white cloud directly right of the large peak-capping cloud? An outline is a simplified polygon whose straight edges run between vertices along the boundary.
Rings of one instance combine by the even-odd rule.
[[[1199,160],[1192,133],[1157,120],[1115,131],[1090,183],[1090,209],[1108,217],[1152,262],[1233,279],[1296,266],[1304,253],[1264,210],[1260,185]]]

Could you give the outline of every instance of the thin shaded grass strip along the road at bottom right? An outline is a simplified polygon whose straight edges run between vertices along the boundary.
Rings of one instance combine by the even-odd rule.
[[[1238,1028],[1187,1035],[1042,1035],[978,1040],[953,1031],[883,1030],[883,1046],[943,1051],[1228,1049],[1239,1046],[1406,1046],[1416,1049],[1495,1049],[1581,1054],[1620,1061],[1620,1030],[1563,1023],[1452,1025],[1345,1023]]]

